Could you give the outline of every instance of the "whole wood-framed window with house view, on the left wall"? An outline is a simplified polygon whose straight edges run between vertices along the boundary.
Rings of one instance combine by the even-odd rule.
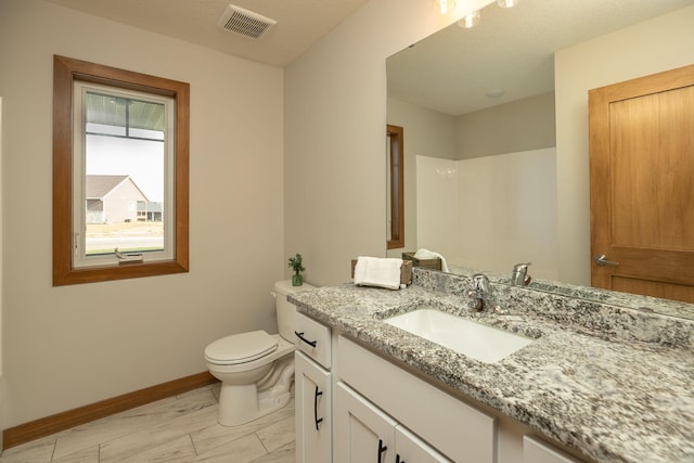
[[[53,59],[53,285],[188,271],[189,83]]]

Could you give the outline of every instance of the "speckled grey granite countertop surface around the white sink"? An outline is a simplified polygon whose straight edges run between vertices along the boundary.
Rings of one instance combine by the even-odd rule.
[[[513,307],[506,314],[472,312],[463,297],[420,286],[345,284],[299,292],[290,300],[299,312],[589,459],[694,462],[694,355],[687,345],[615,336],[614,326],[586,327]],[[499,362],[483,363],[382,321],[422,305],[536,340]],[[645,331],[640,319],[629,320],[637,320],[630,330]]]

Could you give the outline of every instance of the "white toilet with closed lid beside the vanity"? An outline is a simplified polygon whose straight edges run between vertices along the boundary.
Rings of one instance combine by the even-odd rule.
[[[288,294],[311,290],[291,280],[274,284],[279,334],[252,331],[222,337],[205,348],[209,372],[221,381],[219,424],[236,426],[281,409],[291,399],[294,381],[296,307]]]

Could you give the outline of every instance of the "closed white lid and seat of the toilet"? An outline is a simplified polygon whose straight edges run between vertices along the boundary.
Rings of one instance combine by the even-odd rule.
[[[223,365],[246,363],[278,349],[277,338],[265,331],[252,331],[222,337],[205,348],[205,358]]]

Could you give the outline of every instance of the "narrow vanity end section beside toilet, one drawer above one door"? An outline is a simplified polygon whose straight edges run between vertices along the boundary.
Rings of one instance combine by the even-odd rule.
[[[325,463],[332,454],[330,329],[297,313],[294,355],[296,461]]]

